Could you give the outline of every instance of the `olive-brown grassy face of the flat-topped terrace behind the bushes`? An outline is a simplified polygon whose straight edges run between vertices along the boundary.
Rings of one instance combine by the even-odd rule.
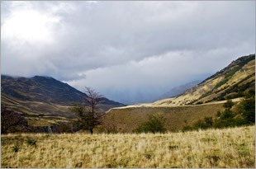
[[[206,116],[215,117],[218,110],[224,110],[223,102],[191,106],[126,106],[109,110],[103,122],[105,128],[115,127],[117,132],[126,133],[148,120],[148,115],[162,114],[166,118],[164,127],[175,131],[183,129],[184,120],[191,125]]]

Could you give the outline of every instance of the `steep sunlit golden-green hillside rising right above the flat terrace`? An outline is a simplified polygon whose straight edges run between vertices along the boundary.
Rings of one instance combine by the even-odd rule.
[[[155,101],[153,106],[191,105],[244,96],[255,87],[255,54],[241,57],[220,72],[206,78],[181,96]]]

